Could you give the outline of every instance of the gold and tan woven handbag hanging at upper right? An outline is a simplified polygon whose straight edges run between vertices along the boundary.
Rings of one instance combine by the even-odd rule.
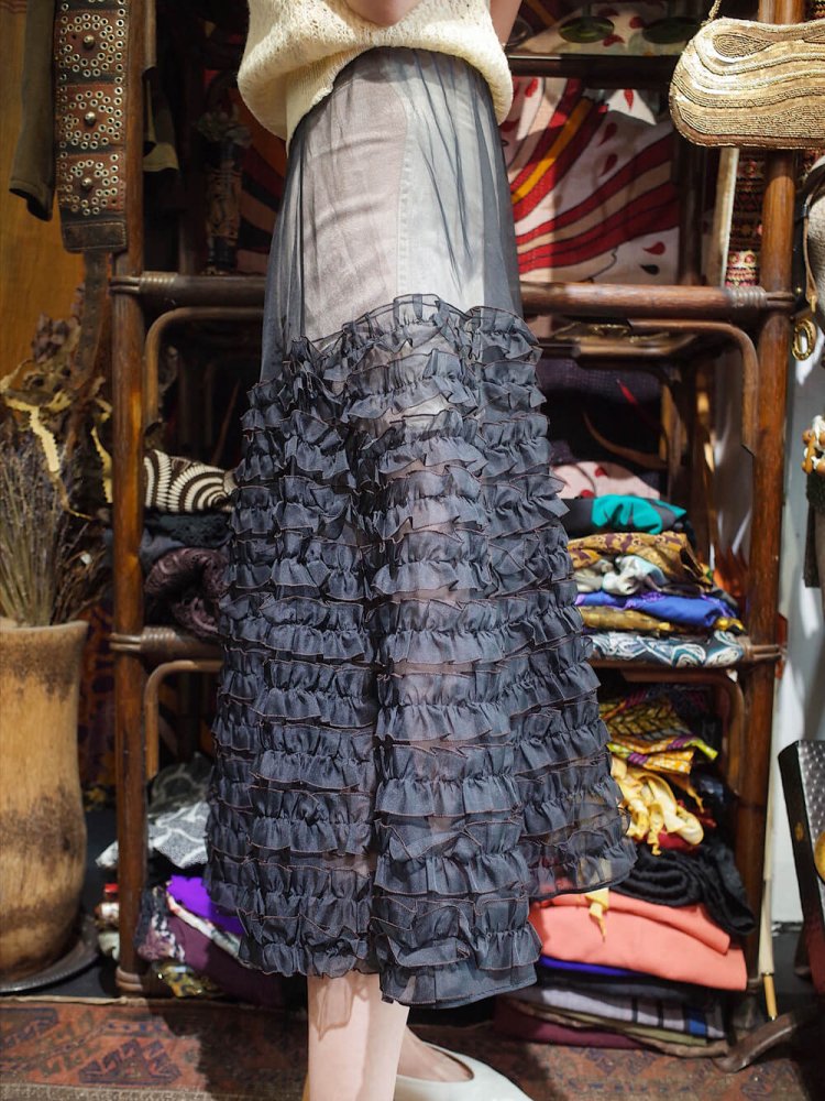
[[[825,19],[717,19],[721,6],[716,0],[676,63],[676,130],[697,145],[825,146]]]

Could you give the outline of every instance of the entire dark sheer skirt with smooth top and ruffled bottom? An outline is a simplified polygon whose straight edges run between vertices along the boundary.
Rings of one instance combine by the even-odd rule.
[[[208,881],[266,972],[458,1005],[622,879],[487,87],[364,54],[300,124],[244,417]]]

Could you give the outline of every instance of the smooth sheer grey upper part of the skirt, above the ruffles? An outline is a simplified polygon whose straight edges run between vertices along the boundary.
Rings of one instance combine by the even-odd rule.
[[[374,50],[290,149],[270,261],[262,379],[398,295],[520,312],[510,197],[484,78],[458,58]]]

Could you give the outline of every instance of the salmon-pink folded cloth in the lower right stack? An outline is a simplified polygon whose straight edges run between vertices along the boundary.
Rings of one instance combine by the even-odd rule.
[[[614,905],[619,897],[626,905]],[[546,956],[646,971],[662,979],[744,990],[745,956],[727,934],[708,928],[702,906],[660,906],[610,894],[605,936],[581,895],[560,895],[530,909]],[[645,908],[645,913],[641,908]],[[652,914],[650,913],[652,912]],[[713,923],[710,923],[713,925]],[[708,944],[713,940],[713,944]]]

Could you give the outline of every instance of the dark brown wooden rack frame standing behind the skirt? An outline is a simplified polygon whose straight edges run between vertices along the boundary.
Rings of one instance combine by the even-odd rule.
[[[215,651],[177,632],[146,628],[143,619],[143,578],[138,559],[143,526],[142,469],[145,412],[154,401],[151,366],[156,348],[146,344],[144,309],[162,312],[153,326],[153,339],[173,317],[186,309],[194,316],[205,310],[215,316],[256,312],[263,302],[263,280],[244,276],[197,276],[177,272],[147,272],[143,263],[142,203],[142,73],[146,56],[146,25],[152,26],[152,0],[132,0],[128,41],[130,111],[127,120],[125,182],[128,194],[128,249],[113,258],[109,288],[113,298],[113,525],[114,525],[114,697],[118,785],[118,838],[120,846],[120,966],[118,981],[124,991],[142,990],[142,964],[133,945],[140,893],[146,868],[146,741],[144,698],[153,700],[157,682],[166,672],[215,668]],[[799,22],[802,0],[760,0],[759,18],[774,22]],[[516,72],[552,75],[574,74],[574,61],[519,57]],[[668,59],[648,72],[649,85],[667,78]],[[543,66],[543,68],[542,68]],[[573,66],[573,68],[571,68]],[[612,67],[610,67],[612,66]],[[609,69],[609,72],[608,72]],[[615,69],[615,72],[614,72]],[[659,72],[661,69],[661,72]],[[594,86],[630,83],[622,64],[588,66]],[[648,80],[645,77],[645,80]],[[638,66],[632,83],[639,85]],[[695,162],[694,162],[695,163]],[[777,645],[777,599],[782,516],[784,462],[785,385],[790,357],[792,307],[791,241],[794,205],[794,154],[771,152],[767,156],[762,220],[761,285],[746,290],[692,285],[698,282],[695,242],[680,270],[676,286],[617,286],[594,284],[522,284],[526,313],[559,314],[571,318],[625,321],[638,318],[645,326],[672,321],[672,328],[691,323],[725,323],[726,327],[752,329],[758,363],[754,382],[754,510],[747,626],[749,651],[738,667],[738,685],[725,688],[734,699],[735,745],[729,746],[730,780],[738,795],[736,859],[751,906],[759,913],[762,897],[762,857],[766,840],[766,804],[771,746],[771,718]],[[690,225],[691,211],[683,217]],[[693,218],[694,225],[697,222]],[[165,320],[163,319],[165,315]],[[667,325],[662,325],[667,329]],[[745,347],[745,346],[743,346]],[[153,350],[154,349],[154,350]],[[747,351],[747,348],[745,349]],[[147,671],[158,674],[146,685]],[[165,666],[165,668],[164,668]],[[660,666],[624,663],[632,677],[661,676]],[[711,671],[719,684],[718,671]],[[701,679],[701,671],[668,671],[671,679]],[[708,679],[708,678],[706,678]],[[728,678],[729,679],[729,678]],[[732,686],[735,685],[729,680]],[[150,728],[153,728],[150,721]],[[747,738],[747,751],[743,742]],[[148,748],[150,754],[153,752]],[[748,938],[747,959],[751,989],[757,980],[756,934]]]

